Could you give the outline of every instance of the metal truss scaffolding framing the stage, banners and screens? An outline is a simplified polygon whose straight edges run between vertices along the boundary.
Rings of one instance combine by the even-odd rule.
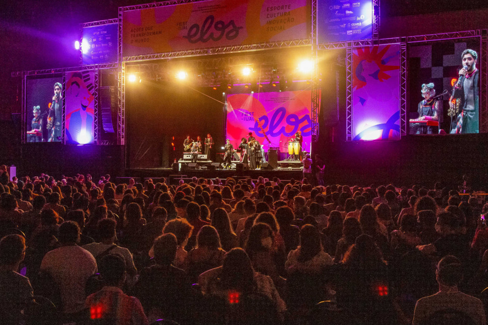
[[[157,79],[158,71],[156,66],[159,66],[161,61],[165,61],[172,58],[188,58],[189,64],[195,69],[203,69],[208,64],[209,59],[214,54],[230,54],[230,53],[243,53],[252,55],[242,56],[219,56],[211,58],[212,66],[215,68],[226,69],[229,66],[236,66],[239,64],[249,64],[250,62],[244,62],[244,60],[256,60],[265,61],[271,57],[276,59],[276,53],[269,53],[273,49],[308,49],[312,61],[315,63],[311,75],[311,93],[312,93],[312,107],[311,107],[311,120],[312,120],[312,141],[318,140],[319,135],[319,71],[318,57],[324,51],[345,49],[345,66],[346,66],[346,139],[352,140],[352,94],[353,94],[353,71],[352,71],[352,52],[355,48],[369,47],[374,45],[386,45],[386,44],[400,44],[400,64],[401,64],[401,84],[400,84],[400,132],[401,135],[407,134],[407,115],[409,102],[407,99],[407,83],[408,83],[408,47],[409,43],[421,43],[430,41],[440,41],[449,39],[461,39],[461,38],[480,38],[480,64],[481,68],[481,89],[480,89],[480,132],[488,132],[488,32],[487,29],[467,30],[457,32],[446,32],[439,34],[426,34],[426,35],[414,35],[414,36],[402,36],[395,38],[381,39],[379,38],[380,30],[380,0],[373,0],[373,37],[372,39],[356,40],[347,42],[334,42],[318,44],[317,40],[317,0],[311,0],[311,34],[308,39],[290,40],[283,42],[270,42],[261,44],[241,45],[241,46],[229,46],[229,47],[216,47],[197,50],[184,50],[165,53],[154,53],[146,55],[133,55],[123,57],[123,42],[122,42],[122,15],[124,11],[137,10],[152,7],[161,7],[175,4],[200,2],[203,0],[168,0],[162,2],[146,3],[140,5],[132,5],[126,7],[119,7],[118,18],[103,20],[98,22],[90,22],[81,24],[81,27],[89,27],[96,25],[118,24],[118,59],[117,62],[97,65],[81,65],[70,68],[57,68],[57,69],[43,69],[43,70],[31,70],[22,72],[13,72],[12,77],[22,78],[23,87],[23,110],[22,110],[22,139],[26,140],[26,107],[25,107],[25,87],[26,77],[32,75],[46,75],[54,73],[66,73],[70,71],[86,71],[95,70],[100,71],[102,69],[109,69],[117,75],[117,98],[118,98],[118,112],[117,112],[117,144],[125,145],[125,85],[126,74],[130,71],[138,73],[152,73]],[[255,53],[255,54],[254,54]],[[286,56],[286,54],[279,54]],[[209,58],[195,59],[195,57],[210,56]],[[153,60],[158,60],[156,63]],[[240,62],[239,60],[242,60]],[[150,62],[153,61],[153,62]],[[272,62],[272,60],[270,60]],[[252,63],[252,62],[251,62]],[[262,64],[261,64],[262,65]],[[269,65],[269,64],[268,64]],[[271,69],[271,73],[266,72],[264,79],[268,81],[276,74],[276,71]],[[96,80],[98,82],[99,74],[96,74]],[[211,81],[208,81],[206,85],[210,85]],[[63,117],[64,118],[64,117]],[[95,137],[97,137],[96,143],[99,145],[106,144],[105,141],[99,141],[98,139],[98,123],[95,124]],[[63,136],[64,136],[64,124],[63,124]],[[64,139],[63,139],[64,141]]]

